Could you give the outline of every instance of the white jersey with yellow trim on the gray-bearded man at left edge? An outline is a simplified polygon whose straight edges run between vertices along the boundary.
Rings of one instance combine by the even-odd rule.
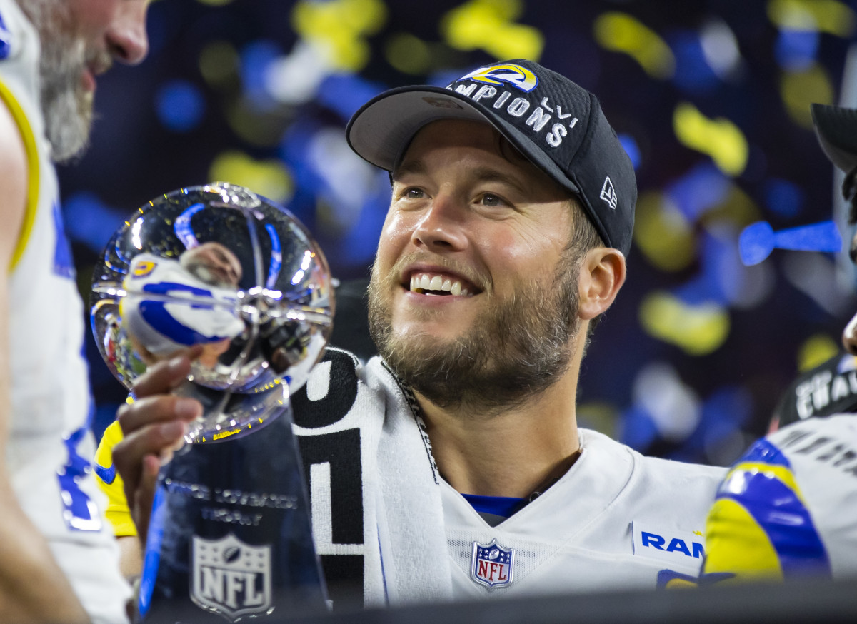
[[[130,590],[92,477],[83,308],[41,117],[39,50],[38,33],[15,0],[0,0],[0,102],[21,131],[29,173],[5,302],[12,374],[7,468],[21,507],[93,621],[126,621]]]

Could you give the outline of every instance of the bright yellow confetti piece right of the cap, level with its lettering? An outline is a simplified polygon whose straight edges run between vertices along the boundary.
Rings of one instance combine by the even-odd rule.
[[[708,154],[728,176],[739,176],[747,164],[749,148],[744,133],[725,117],[709,119],[696,106],[682,102],[675,107],[673,129],[678,140]]]

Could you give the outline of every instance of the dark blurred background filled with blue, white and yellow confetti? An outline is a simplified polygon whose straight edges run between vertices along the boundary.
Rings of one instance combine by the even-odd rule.
[[[60,169],[84,292],[123,219],[215,179],[282,201],[335,277],[366,277],[389,184],[348,150],[351,113],[387,87],[530,57],[596,93],[638,175],[628,280],[584,360],[581,423],[727,464],[839,348],[857,303],[844,256],[776,249],[744,267],[738,238],[833,217],[808,105],[857,105],[851,3],[160,0],[149,30],[147,60],[99,80],[92,148]],[[124,390],[91,339],[87,352],[100,433]]]

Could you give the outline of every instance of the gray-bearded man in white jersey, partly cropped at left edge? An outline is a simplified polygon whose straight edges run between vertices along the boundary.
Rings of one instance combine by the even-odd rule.
[[[147,54],[148,0],[0,0],[0,621],[126,621],[96,505],[82,309],[53,162],[97,76]]]

